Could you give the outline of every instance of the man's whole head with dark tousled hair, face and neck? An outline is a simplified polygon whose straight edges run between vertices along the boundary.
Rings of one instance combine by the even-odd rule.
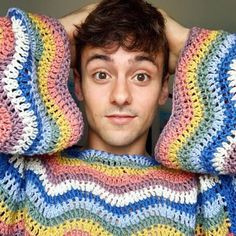
[[[78,31],[75,86],[85,104],[87,146],[145,154],[156,109],[168,97],[162,15],[143,1],[103,1]]]

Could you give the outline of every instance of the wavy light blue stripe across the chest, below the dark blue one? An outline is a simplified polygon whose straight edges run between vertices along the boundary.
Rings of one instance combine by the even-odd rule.
[[[52,204],[46,204],[43,199],[39,196],[35,196],[35,199],[32,199],[32,204],[35,206],[37,211],[43,215],[44,218],[49,220],[62,216],[65,212],[70,214],[70,211],[88,211],[91,212],[104,221],[109,222],[112,225],[118,225],[119,227],[128,227],[133,224],[139,224],[143,222],[147,217],[161,216],[171,221],[178,222],[179,224],[186,225],[188,227],[194,228],[195,226],[195,215],[185,214],[183,211],[178,211],[166,205],[155,204],[148,207],[140,206],[137,211],[129,211],[126,214],[118,214],[117,212],[113,213],[111,208],[105,209],[100,202],[89,199],[79,199],[74,197],[73,199],[68,199],[66,202]],[[130,206],[127,206],[130,209]],[[179,219],[178,216],[181,215]]]

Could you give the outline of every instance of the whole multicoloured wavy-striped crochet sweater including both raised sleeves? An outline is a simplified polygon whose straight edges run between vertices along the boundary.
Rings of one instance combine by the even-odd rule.
[[[236,35],[194,28],[155,158],[71,147],[82,116],[54,19],[0,18],[0,235],[236,235]]]

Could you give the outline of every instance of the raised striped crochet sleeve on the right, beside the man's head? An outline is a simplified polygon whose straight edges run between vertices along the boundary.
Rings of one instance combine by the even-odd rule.
[[[191,30],[155,155],[170,168],[236,174],[236,34]]]

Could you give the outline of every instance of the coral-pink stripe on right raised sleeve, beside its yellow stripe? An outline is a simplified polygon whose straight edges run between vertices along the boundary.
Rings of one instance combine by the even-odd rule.
[[[187,88],[187,71],[188,66],[191,64],[192,58],[196,55],[198,50],[202,47],[202,44],[208,40],[210,32],[204,32],[201,37],[202,41],[195,43],[195,50],[191,48],[191,52],[185,51],[187,54],[188,60],[186,61],[185,57],[181,57],[179,61],[179,65],[181,68],[176,73],[176,81],[174,86],[174,91],[178,91],[178,94],[175,94],[175,101],[173,101],[173,114],[175,116],[171,116],[169,122],[167,123],[165,129],[163,130],[159,142],[155,148],[155,156],[161,160],[161,163],[170,167],[170,168],[178,168],[178,160],[176,159],[173,162],[170,159],[170,145],[173,144],[178,137],[181,137],[183,131],[186,130],[186,127],[192,121],[194,116],[194,110],[192,107],[192,103],[185,101],[191,101],[191,96],[188,93]],[[176,107],[176,104],[181,104],[183,107]],[[183,111],[185,111],[183,113]],[[186,118],[187,117],[187,118]]]

